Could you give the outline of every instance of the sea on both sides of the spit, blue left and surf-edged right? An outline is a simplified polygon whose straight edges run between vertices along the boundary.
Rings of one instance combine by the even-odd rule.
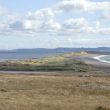
[[[63,53],[64,52],[0,52],[0,61],[38,59],[53,55],[61,55]],[[94,59],[110,63],[110,55],[100,55],[94,57]]]

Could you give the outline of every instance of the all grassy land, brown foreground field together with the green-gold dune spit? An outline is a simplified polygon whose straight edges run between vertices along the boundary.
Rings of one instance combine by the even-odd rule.
[[[51,72],[0,74],[0,110],[110,110],[110,77],[72,59],[85,54],[1,62],[0,70]]]

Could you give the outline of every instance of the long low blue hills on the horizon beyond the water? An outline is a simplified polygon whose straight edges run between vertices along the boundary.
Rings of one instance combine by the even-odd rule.
[[[68,52],[79,52],[79,51],[110,53],[110,47],[98,47],[98,48],[55,48],[55,49],[33,48],[33,49],[16,49],[16,50],[0,51],[0,52],[68,53]]]

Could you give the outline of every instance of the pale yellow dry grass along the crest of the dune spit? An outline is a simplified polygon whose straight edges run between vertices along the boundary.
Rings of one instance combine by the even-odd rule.
[[[56,55],[56,56],[49,56],[49,57],[44,57],[41,59],[29,59],[29,60],[12,60],[8,61],[8,63],[18,63],[18,64],[30,64],[30,65],[46,65],[46,64],[51,64],[51,63],[59,63],[63,61],[68,61],[68,57],[73,57],[73,56],[83,56],[87,55],[88,53],[86,52],[73,52],[73,53],[66,53],[62,55]]]

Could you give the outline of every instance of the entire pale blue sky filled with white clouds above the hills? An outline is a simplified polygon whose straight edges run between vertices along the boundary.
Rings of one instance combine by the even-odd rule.
[[[0,0],[0,50],[110,47],[110,0]]]

